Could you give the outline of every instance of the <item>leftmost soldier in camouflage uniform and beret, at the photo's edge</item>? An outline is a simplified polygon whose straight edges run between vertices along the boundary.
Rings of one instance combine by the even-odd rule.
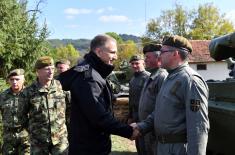
[[[0,95],[0,110],[3,122],[3,155],[29,154],[28,132],[22,127],[22,120],[18,117],[19,103],[25,103],[24,70],[12,70],[7,81],[10,88]]]

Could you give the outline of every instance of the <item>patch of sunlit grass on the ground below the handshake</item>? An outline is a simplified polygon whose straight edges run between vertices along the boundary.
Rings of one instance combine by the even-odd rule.
[[[119,136],[112,136],[111,155],[137,155],[135,142]]]

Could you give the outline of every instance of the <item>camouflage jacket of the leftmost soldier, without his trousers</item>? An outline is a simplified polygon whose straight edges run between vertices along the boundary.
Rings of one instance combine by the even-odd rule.
[[[26,97],[22,92],[15,94],[10,88],[0,94],[0,110],[4,129],[21,127],[23,120],[18,117],[19,106],[25,101]]]

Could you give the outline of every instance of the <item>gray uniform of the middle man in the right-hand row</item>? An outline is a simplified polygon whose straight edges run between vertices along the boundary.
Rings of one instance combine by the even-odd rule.
[[[146,80],[139,101],[139,121],[145,120],[155,108],[156,97],[163,81],[168,73],[165,69],[154,69],[150,77]],[[154,132],[147,133],[140,140],[143,140],[146,155],[153,155],[155,150],[156,137]]]

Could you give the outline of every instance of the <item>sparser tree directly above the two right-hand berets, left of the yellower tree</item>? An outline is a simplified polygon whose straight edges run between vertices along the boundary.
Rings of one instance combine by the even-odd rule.
[[[160,17],[151,19],[146,26],[142,43],[160,42],[165,35],[178,34],[187,36],[188,16],[190,14],[181,5],[176,4],[173,10],[164,10]]]

